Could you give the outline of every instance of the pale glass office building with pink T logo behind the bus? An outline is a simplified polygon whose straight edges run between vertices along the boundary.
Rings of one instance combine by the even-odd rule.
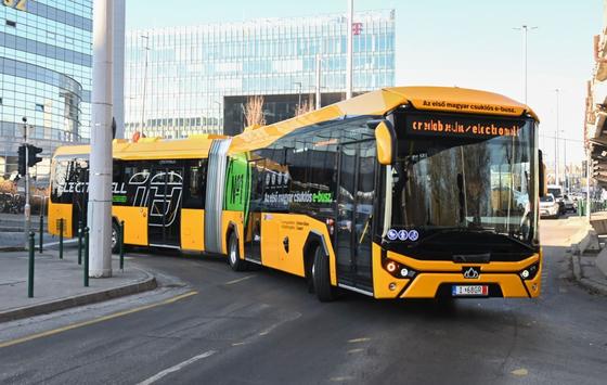
[[[292,117],[299,100],[314,103],[318,62],[323,104],[341,99],[347,25],[319,15],[128,31],[126,138],[235,133],[253,95],[272,100],[267,123]],[[395,11],[357,13],[353,33],[353,92],[393,86]]]

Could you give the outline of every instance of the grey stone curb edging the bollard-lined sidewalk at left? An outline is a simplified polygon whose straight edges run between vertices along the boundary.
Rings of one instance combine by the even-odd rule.
[[[141,270],[143,271],[143,270]],[[56,299],[44,304],[25,306],[16,309],[0,312],[0,323],[14,321],[23,318],[40,316],[52,311],[64,310],[77,306],[96,304],[117,297],[146,292],[158,286],[156,278],[144,271],[147,278],[135,283],[128,283],[118,287],[102,290],[93,293],[75,295],[67,298]]]

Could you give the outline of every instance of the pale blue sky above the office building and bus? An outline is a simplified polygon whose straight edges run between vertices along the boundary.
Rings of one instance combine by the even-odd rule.
[[[347,0],[128,0],[127,29],[201,25],[259,17],[345,13]],[[356,11],[396,10],[396,86],[457,86],[524,101],[539,115],[540,147],[555,154],[559,89],[559,159],[580,162],[592,39],[603,30],[602,0],[354,0]],[[566,153],[565,153],[566,152]]]

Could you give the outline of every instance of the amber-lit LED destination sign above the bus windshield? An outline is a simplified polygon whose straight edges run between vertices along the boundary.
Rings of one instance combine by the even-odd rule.
[[[450,138],[518,137],[525,120],[453,115],[408,115],[408,134]]]

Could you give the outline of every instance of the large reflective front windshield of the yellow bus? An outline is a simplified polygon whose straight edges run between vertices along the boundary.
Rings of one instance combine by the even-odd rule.
[[[534,123],[519,121],[518,134],[487,139],[416,137],[397,119],[398,157],[388,177],[391,229],[416,230],[418,243],[449,232],[462,242],[470,241],[464,233],[489,233],[517,247],[535,244]]]

